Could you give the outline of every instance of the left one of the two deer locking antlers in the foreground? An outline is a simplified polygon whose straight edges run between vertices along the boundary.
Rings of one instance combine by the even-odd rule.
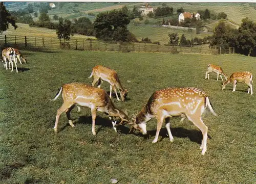
[[[74,124],[72,123],[72,120],[70,117],[70,111],[74,107],[74,104],[78,104],[81,107],[88,107],[91,109],[92,121],[93,121],[93,125],[92,125],[93,135],[96,135],[96,132],[95,132],[96,111],[100,111],[108,114],[110,116],[110,119],[111,117],[119,117],[121,119],[121,122],[119,124],[122,124],[123,122],[129,122],[128,116],[114,106],[114,103],[110,99],[109,95],[103,89],[95,88],[93,86],[80,84],[80,83],[65,84],[59,89],[59,92],[56,94],[55,98],[51,100],[52,101],[56,100],[60,95],[61,91],[62,91],[63,104],[57,110],[56,121],[54,126],[55,132],[57,132],[59,116],[63,112],[66,112],[69,120],[69,124],[72,127],[74,127]],[[115,122],[112,121],[112,124],[115,132],[117,132],[115,127],[116,121]]]

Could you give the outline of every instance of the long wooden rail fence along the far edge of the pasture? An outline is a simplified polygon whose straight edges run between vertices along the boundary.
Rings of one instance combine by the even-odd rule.
[[[73,50],[108,50],[108,51],[137,51],[137,52],[170,52],[172,54],[233,54],[234,48],[209,48],[205,45],[165,46],[150,43],[106,43],[98,40],[70,39],[60,41],[57,37],[32,37],[16,35],[0,35],[0,44],[16,48],[43,48],[43,49],[73,49]]]

